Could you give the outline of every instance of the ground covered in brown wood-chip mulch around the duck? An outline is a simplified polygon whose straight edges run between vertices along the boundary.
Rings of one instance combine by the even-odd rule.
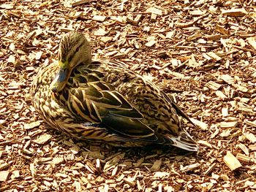
[[[1,1],[0,191],[255,191],[255,4]],[[43,123],[31,80],[73,30],[173,96],[200,151],[81,142]]]

